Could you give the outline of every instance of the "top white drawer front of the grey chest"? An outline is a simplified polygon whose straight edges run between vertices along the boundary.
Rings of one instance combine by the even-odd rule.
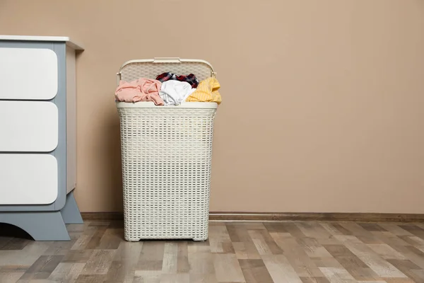
[[[57,55],[39,48],[0,48],[0,99],[50,100],[57,95]]]

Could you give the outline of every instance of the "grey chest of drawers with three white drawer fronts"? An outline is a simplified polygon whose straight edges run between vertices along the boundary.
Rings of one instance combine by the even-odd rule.
[[[76,187],[76,52],[69,37],[0,35],[0,222],[69,240]]]

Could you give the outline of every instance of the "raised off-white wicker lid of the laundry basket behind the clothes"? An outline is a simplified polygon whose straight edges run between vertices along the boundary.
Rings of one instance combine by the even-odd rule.
[[[119,81],[134,81],[139,78],[155,79],[159,74],[170,71],[174,74],[195,74],[199,81],[216,76],[210,63],[201,59],[180,59],[160,57],[154,59],[136,59],[125,62],[117,73]]]

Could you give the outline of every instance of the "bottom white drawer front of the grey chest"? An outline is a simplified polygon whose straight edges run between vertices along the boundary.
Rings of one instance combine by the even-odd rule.
[[[57,160],[49,154],[0,154],[0,204],[51,204]]]

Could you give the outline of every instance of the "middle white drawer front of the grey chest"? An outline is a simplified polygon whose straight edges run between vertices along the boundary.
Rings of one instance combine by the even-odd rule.
[[[54,103],[0,100],[0,151],[53,151],[59,140],[58,115]]]

